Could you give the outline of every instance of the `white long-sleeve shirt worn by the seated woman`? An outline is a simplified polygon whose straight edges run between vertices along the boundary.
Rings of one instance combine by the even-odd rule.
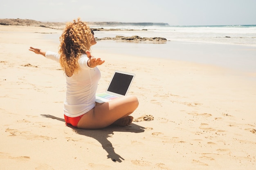
[[[60,62],[60,55],[47,51],[45,57]],[[101,73],[97,67],[90,68],[87,65],[86,54],[79,57],[79,71],[71,77],[65,74],[67,82],[66,99],[64,102],[64,114],[68,117],[78,117],[95,106],[96,91]]]

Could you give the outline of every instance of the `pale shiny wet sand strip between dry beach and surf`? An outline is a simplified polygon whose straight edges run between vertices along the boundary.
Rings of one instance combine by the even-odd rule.
[[[97,46],[92,47],[92,50],[109,51],[119,54],[120,57],[125,53],[256,73],[256,58],[254,57],[256,49],[251,46],[177,41],[168,41],[164,44],[98,41]],[[204,51],[208,53],[205,54]]]

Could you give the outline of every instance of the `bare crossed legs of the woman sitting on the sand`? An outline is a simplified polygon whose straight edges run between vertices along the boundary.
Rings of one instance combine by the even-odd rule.
[[[135,96],[129,95],[96,105],[85,113],[77,127],[82,129],[105,128],[111,124],[126,126],[132,123],[129,116],[139,105]]]

